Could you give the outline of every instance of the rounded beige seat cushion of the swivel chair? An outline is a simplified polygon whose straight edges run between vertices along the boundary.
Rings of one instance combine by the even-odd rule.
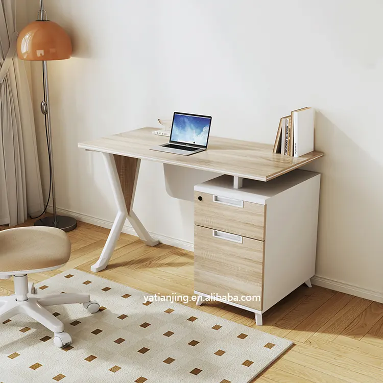
[[[49,269],[70,256],[66,233],[53,227],[20,227],[0,231],[0,273]]]

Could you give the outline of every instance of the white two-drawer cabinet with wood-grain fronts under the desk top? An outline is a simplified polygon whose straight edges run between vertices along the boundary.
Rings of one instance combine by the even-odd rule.
[[[320,174],[195,186],[195,293],[262,313],[315,274]],[[228,297],[231,296],[232,300]],[[259,297],[256,299],[255,297]]]

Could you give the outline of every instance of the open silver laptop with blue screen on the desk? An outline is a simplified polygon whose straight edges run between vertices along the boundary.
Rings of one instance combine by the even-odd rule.
[[[150,149],[183,156],[202,152],[207,149],[210,125],[210,116],[174,112],[169,142]]]

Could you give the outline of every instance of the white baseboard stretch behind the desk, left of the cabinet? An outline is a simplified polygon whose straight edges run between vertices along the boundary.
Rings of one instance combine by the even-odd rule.
[[[53,211],[52,206],[48,206],[46,211],[52,213],[52,211]],[[107,220],[103,220],[103,219],[100,219],[97,217],[87,216],[87,214],[78,213],[76,211],[60,209],[60,208],[57,208],[56,211],[57,211],[57,214],[62,214],[63,216],[73,217],[73,218],[76,218],[76,220],[78,220],[78,221],[86,222],[86,223],[96,225],[96,226],[105,227],[107,229],[111,229],[111,227],[113,225],[112,221],[107,221]],[[133,227],[130,225],[127,225],[126,223],[123,227],[123,233],[138,236],[137,233],[134,231]],[[158,240],[161,244],[179,247],[180,249],[184,249],[184,250],[188,250],[188,251],[194,251],[194,243],[192,243],[192,242],[177,240],[176,238],[168,237],[168,236],[162,235],[162,234],[153,233],[150,231],[149,231],[149,234],[153,238]]]

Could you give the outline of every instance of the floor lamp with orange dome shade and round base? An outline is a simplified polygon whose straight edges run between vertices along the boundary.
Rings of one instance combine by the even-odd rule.
[[[21,60],[42,61],[44,100],[41,112],[45,118],[45,131],[50,165],[50,191],[52,190],[53,217],[44,217],[35,222],[35,226],[57,227],[64,231],[76,228],[77,221],[71,217],[58,216],[56,213],[55,173],[53,167],[51,108],[49,102],[47,61],[70,58],[72,45],[69,36],[55,22],[46,17],[43,0],[40,0],[38,20],[31,22],[19,33],[17,55]]]

